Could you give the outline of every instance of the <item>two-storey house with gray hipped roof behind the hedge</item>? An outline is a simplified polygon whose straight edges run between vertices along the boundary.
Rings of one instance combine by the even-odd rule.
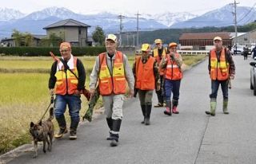
[[[63,41],[70,42],[73,46],[84,47],[90,42],[88,41],[89,27],[90,25],[86,25],[80,21],[66,19],[48,25],[43,29],[46,29],[47,36],[55,33],[56,36],[61,37]]]

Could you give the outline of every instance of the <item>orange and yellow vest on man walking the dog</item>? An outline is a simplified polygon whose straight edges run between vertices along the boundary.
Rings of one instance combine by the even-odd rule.
[[[59,62],[57,63],[57,67]],[[76,76],[78,76],[78,69],[77,69],[77,58],[74,57],[74,68],[71,69],[72,72]],[[78,79],[74,76],[73,73],[70,72],[70,70],[64,71],[64,65],[62,66],[61,70],[58,70],[55,73],[56,77],[56,84],[55,84],[55,93],[58,95],[72,95],[74,94],[75,90],[78,89]]]

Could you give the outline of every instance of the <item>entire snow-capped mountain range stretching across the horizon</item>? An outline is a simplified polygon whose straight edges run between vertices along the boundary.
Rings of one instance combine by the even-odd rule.
[[[226,26],[234,25],[233,6],[223,6],[218,10],[212,10],[206,14],[196,17],[189,13],[170,12],[160,14],[140,14],[139,30],[154,30],[166,28],[190,28],[204,26]],[[36,11],[25,15],[18,10],[0,9],[0,38],[10,37],[13,29],[21,32],[33,34],[46,34],[42,29],[56,21],[73,18],[81,21],[91,27],[89,33],[99,25],[106,33],[118,33],[120,27],[120,13],[102,12],[98,14],[76,14],[66,8],[50,7],[44,10]],[[122,18],[122,32],[136,31],[137,16],[136,13],[122,12],[125,17]],[[244,25],[256,18],[256,10],[250,10],[250,7],[237,7],[238,25]]]

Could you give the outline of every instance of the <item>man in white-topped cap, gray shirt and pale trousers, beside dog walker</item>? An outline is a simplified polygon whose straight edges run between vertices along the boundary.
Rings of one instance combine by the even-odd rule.
[[[114,34],[107,35],[105,45],[106,53],[98,55],[90,74],[90,93],[94,95],[98,80],[106,123],[110,128],[107,140],[111,140],[110,146],[118,146],[126,82],[130,88],[130,96],[134,96],[134,75],[126,55],[116,50],[118,39]]]

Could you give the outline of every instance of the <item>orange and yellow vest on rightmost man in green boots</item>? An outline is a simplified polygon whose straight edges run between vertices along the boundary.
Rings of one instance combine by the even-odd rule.
[[[227,80],[229,78],[230,64],[226,61],[225,49],[222,49],[220,59],[218,61],[216,49],[210,51],[210,79]]]

